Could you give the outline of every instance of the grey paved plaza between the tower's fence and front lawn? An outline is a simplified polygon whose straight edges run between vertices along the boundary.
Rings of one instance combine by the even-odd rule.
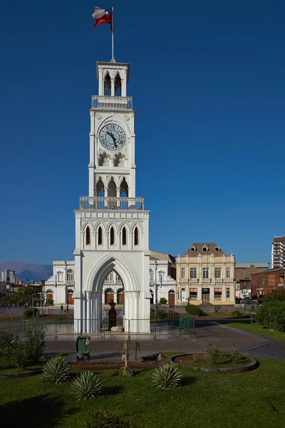
[[[152,339],[134,337],[130,340],[130,356],[135,352],[135,343],[138,342],[142,356],[159,354],[160,352],[206,352],[207,346],[216,344],[224,350],[230,350],[232,345],[248,354],[260,357],[285,360],[285,342],[271,340],[266,337],[237,330],[232,327],[218,325],[215,322],[197,321],[197,335],[185,340]],[[108,340],[91,339],[90,355],[96,362],[117,362],[123,352],[124,337],[110,337]],[[76,337],[58,337],[57,341],[46,340],[46,352],[76,352]]]

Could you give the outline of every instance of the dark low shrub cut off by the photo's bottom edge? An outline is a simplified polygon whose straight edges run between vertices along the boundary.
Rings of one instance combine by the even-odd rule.
[[[135,424],[123,414],[96,411],[84,428],[135,428]]]

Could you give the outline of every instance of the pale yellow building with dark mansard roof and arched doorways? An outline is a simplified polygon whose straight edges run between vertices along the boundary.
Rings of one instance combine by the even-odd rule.
[[[177,305],[234,305],[234,255],[217,244],[193,244],[176,259]]]

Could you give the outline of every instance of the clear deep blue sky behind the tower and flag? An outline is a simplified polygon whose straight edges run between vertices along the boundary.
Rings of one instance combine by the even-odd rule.
[[[1,6],[1,262],[73,258],[95,61],[111,58],[94,6],[112,4]],[[269,262],[285,234],[284,1],[113,6],[150,248],[178,255],[215,242],[237,262]]]

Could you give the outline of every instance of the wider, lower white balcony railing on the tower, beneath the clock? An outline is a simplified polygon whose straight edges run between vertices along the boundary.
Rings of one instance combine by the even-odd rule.
[[[144,198],[93,198],[81,196],[81,210],[144,210]]]

